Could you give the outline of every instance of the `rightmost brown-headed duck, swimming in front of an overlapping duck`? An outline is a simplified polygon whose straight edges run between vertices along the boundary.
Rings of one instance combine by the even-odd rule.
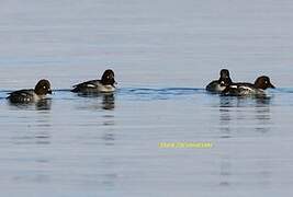
[[[232,83],[223,91],[223,94],[235,96],[266,95],[264,90],[269,88],[274,89],[274,85],[271,83],[270,78],[267,76],[261,76],[255,81],[255,84]]]

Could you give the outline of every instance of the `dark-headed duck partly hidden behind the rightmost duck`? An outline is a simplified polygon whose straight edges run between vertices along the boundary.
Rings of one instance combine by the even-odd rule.
[[[226,86],[232,84],[232,79],[229,76],[229,71],[227,69],[222,69],[219,72],[219,79],[214,80],[211,83],[209,83],[205,88],[206,91],[213,92],[213,93],[221,93],[223,92]]]

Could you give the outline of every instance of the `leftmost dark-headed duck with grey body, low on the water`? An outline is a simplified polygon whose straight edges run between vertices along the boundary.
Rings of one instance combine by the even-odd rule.
[[[50,83],[48,80],[42,79],[35,85],[35,89],[24,89],[9,93],[7,97],[11,103],[33,103],[52,94]]]

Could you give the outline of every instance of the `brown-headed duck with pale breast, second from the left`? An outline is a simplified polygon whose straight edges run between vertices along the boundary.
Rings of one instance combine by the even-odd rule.
[[[74,85],[71,92],[77,93],[99,93],[115,91],[114,72],[111,69],[104,71],[101,80],[91,80]]]

